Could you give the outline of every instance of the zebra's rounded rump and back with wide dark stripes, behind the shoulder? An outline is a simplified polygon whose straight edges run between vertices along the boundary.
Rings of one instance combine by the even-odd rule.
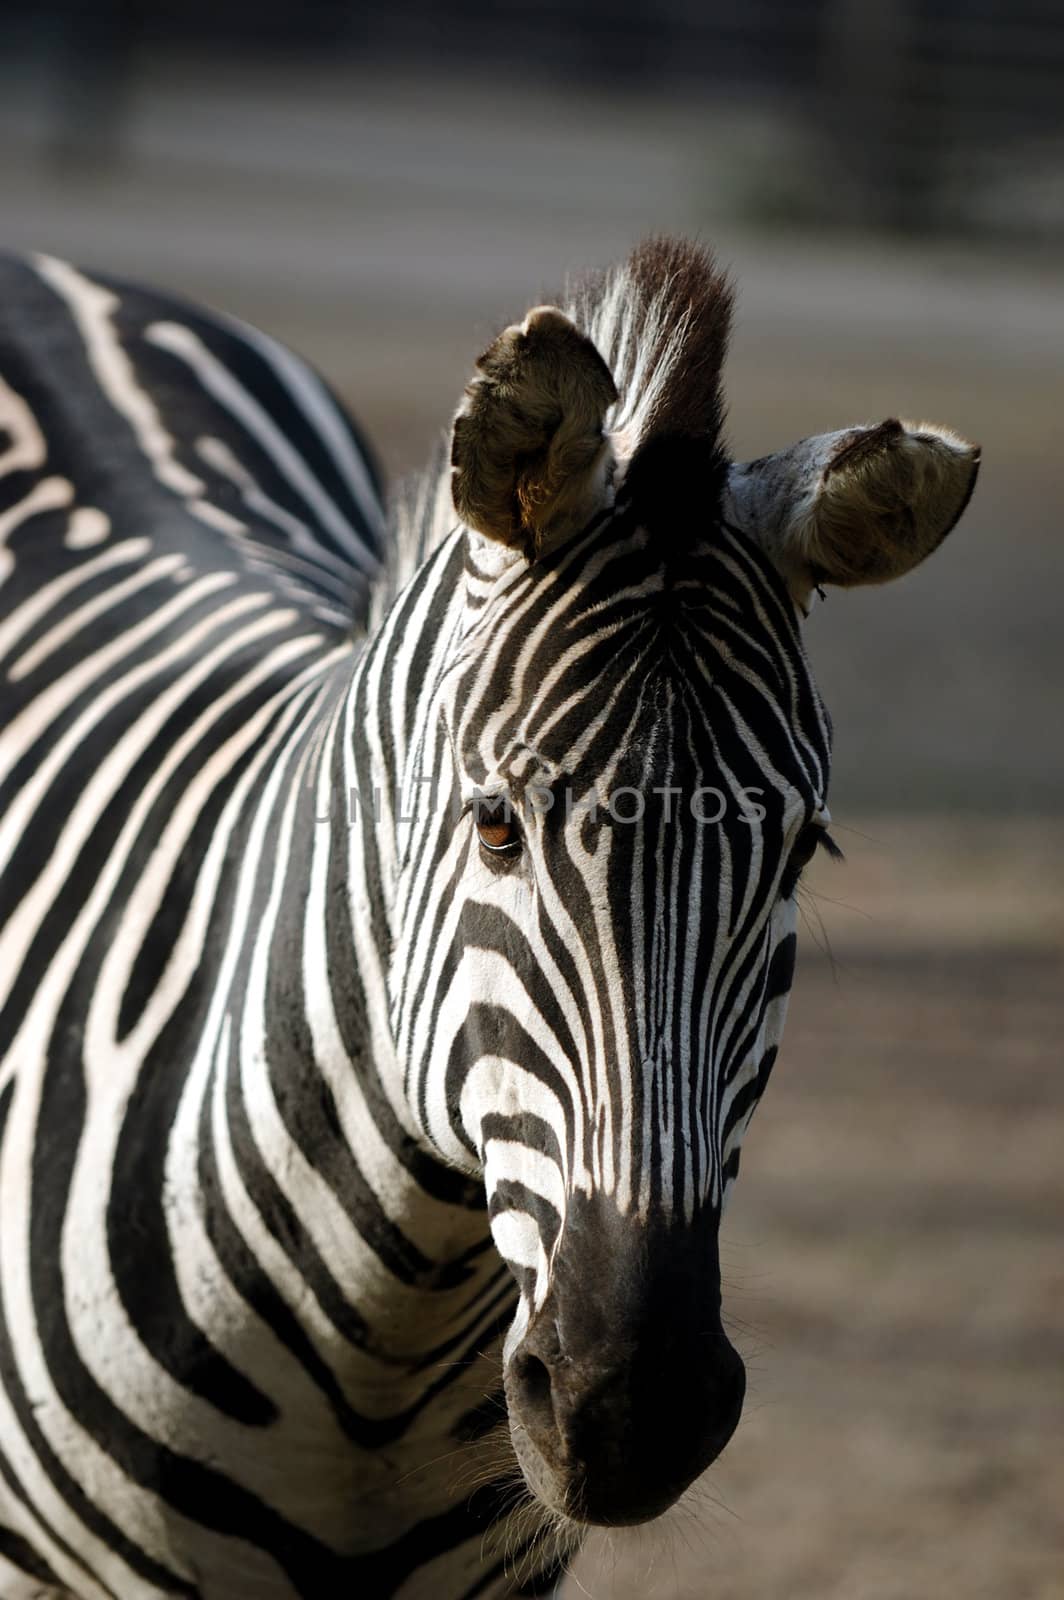
[[[46,256],[6,258],[0,421],[5,614],[58,579],[69,608],[134,539],[138,560],[269,587],[330,642],[365,626],[378,469],[326,384],[274,339]]]

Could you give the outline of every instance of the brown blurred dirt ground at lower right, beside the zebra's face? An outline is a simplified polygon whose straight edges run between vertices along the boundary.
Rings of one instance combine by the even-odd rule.
[[[1064,1597],[1064,827],[837,837],[725,1224],[744,1421],[565,1600]]]

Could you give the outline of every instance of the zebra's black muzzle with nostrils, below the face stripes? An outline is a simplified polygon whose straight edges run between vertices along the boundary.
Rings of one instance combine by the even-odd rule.
[[[648,1224],[602,1197],[576,1200],[506,1370],[533,1496],[578,1523],[650,1522],[722,1453],[744,1392],[720,1325],[715,1218]]]

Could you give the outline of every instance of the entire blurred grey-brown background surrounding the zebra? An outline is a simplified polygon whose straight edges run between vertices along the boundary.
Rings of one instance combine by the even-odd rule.
[[[810,651],[819,866],[726,1222],[746,1421],[595,1600],[1064,1597],[1059,0],[0,3],[0,243],[286,339],[394,478],[642,234],[739,285],[731,443],[890,414],[965,520]]]

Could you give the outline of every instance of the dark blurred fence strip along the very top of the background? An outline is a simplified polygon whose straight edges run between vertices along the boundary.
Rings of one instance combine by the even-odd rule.
[[[549,78],[731,107],[742,219],[1064,232],[1056,0],[5,0],[59,160],[114,157],[146,53]]]

